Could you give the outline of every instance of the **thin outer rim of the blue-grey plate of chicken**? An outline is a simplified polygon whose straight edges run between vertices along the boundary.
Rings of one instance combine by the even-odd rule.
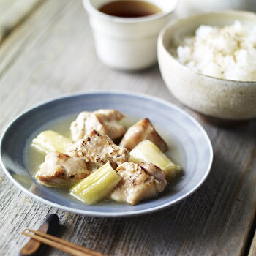
[[[165,204],[162,204],[160,206],[153,206],[151,208],[146,208],[146,209],[139,210],[139,211],[126,211],[126,212],[86,211],[86,210],[75,209],[75,208],[68,207],[68,206],[62,206],[62,205],[59,205],[58,203],[53,203],[53,202],[50,202],[49,200],[46,200],[42,197],[39,197],[39,195],[35,195],[34,193],[30,192],[28,189],[23,187],[21,184],[19,184],[18,181],[16,181],[15,178],[13,178],[10,175],[10,172],[4,166],[3,157],[2,157],[2,154],[3,154],[3,152],[2,152],[3,139],[4,139],[8,129],[10,129],[10,126],[15,121],[17,121],[18,118],[21,118],[24,114],[30,112],[31,110],[39,108],[42,105],[46,105],[50,102],[53,102],[53,101],[56,101],[56,100],[59,100],[59,99],[67,99],[69,97],[91,95],[91,94],[116,94],[116,95],[125,95],[125,96],[131,96],[131,97],[143,97],[143,98],[146,98],[148,100],[151,100],[151,101],[154,101],[154,102],[159,102],[159,103],[162,103],[163,105],[167,105],[170,108],[174,108],[176,111],[180,112],[181,114],[183,114],[184,116],[189,118],[200,129],[200,131],[203,132],[203,135],[206,138],[206,142],[208,144],[208,149],[210,151],[208,167],[207,167],[206,172],[204,173],[203,178],[200,179],[200,182],[198,182],[195,187],[190,189],[189,192],[182,195],[181,197],[178,197],[176,200],[172,200],[172,201],[167,202]],[[5,175],[10,179],[10,181],[12,181],[13,184],[15,184],[16,187],[18,187],[22,192],[25,192],[26,195],[29,195],[30,197],[34,198],[34,200],[37,200],[41,203],[45,203],[48,206],[59,208],[61,210],[72,212],[74,214],[80,214],[80,215],[90,216],[90,217],[132,217],[132,216],[138,216],[138,215],[141,215],[141,214],[150,214],[150,213],[153,213],[155,211],[160,211],[160,210],[163,210],[163,209],[168,208],[170,206],[173,206],[174,204],[176,204],[178,202],[181,202],[181,200],[184,200],[185,198],[187,198],[190,195],[192,195],[193,193],[195,193],[197,191],[197,189],[199,189],[202,186],[202,184],[206,181],[206,178],[208,177],[208,175],[211,171],[211,166],[212,166],[212,163],[213,163],[213,159],[214,159],[214,151],[213,151],[213,147],[212,147],[212,144],[211,144],[211,140],[208,137],[208,134],[207,134],[206,130],[203,128],[203,126],[193,116],[191,116],[189,113],[187,113],[182,108],[178,107],[177,105],[174,105],[171,102],[168,102],[165,99],[162,99],[162,98],[159,98],[159,97],[154,97],[154,96],[151,96],[149,94],[134,93],[134,92],[130,92],[130,91],[112,91],[112,90],[109,90],[109,91],[102,90],[102,91],[100,91],[100,90],[98,90],[98,91],[88,91],[88,92],[75,92],[75,93],[69,93],[69,94],[61,94],[58,97],[53,97],[53,98],[47,99],[45,101],[39,102],[36,105],[32,105],[30,108],[27,108],[27,109],[23,110],[22,112],[20,112],[17,116],[15,116],[15,118],[12,118],[10,123],[7,124],[7,127],[2,132],[1,138],[0,138],[0,165],[1,165],[2,169],[4,170]]]

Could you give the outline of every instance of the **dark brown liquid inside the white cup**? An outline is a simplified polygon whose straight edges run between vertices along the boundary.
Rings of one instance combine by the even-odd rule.
[[[99,8],[100,12],[121,18],[138,18],[154,15],[162,10],[146,1],[112,1]]]

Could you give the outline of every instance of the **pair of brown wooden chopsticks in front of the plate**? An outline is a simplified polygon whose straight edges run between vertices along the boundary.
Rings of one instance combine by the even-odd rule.
[[[41,241],[43,244],[52,246],[56,249],[61,250],[62,252],[68,252],[71,255],[75,255],[75,256],[106,256],[100,252],[96,252],[91,249],[86,249],[82,246],[78,246],[77,244],[73,244],[64,239],[57,238],[56,236],[50,236],[49,234],[45,234],[45,233],[39,232],[37,230],[31,230],[30,228],[26,228],[26,230],[29,230],[29,231],[35,233],[36,235],[31,234],[31,233],[22,232],[23,235],[34,238],[37,241]]]

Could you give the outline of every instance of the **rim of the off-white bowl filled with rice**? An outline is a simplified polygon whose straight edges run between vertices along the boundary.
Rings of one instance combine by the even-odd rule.
[[[158,58],[158,61],[159,61],[159,48],[161,47],[162,49],[165,50],[165,54],[167,54],[167,56],[170,57],[170,59],[172,59],[175,64],[178,65],[178,67],[180,67],[181,69],[185,69],[186,71],[189,71],[189,72],[192,72],[193,74],[196,74],[196,75],[199,75],[200,77],[203,77],[203,78],[208,78],[208,79],[214,79],[214,80],[219,80],[219,82],[224,82],[224,83],[236,83],[236,84],[246,84],[246,85],[253,85],[255,86],[256,85],[256,80],[249,80],[249,81],[246,81],[246,80],[230,80],[230,79],[225,79],[225,78],[217,78],[217,77],[214,77],[214,76],[211,76],[211,75],[205,75],[201,72],[197,72],[195,70],[192,70],[190,69],[189,67],[187,67],[186,65],[184,64],[181,64],[178,59],[175,58],[175,56],[173,56],[173,54],[170,52],[170,50],[168,50],[166,47],[165,47],[165,44],[163,43],[163,39],[165,37],[165,34],[167,33],[167,31],[171,28],[173,28],[174,26],[177,26],[179,23],[184,23],[184,25],[188,22],[191,22],[192,20],[195,20],[197,18],[203,18],[203,17],[207,17],[208,15],[241,15],[244,16],[244,17],[248,17],[248,18],[255,18],[255,21],[256,21],[256,13],[255,12],[247,12],[247,11],[240,11],[240,10],[224,10],[224,11],[217,11],[217,12],[203,12],[203,13],[200,13],[200,14],[197,14],[197,15],[189,15],[188,17],[186,18],[180,18],[178,20],[173,20],[171,21],[170,23],[167,23],[167,25],[165,25],[160,33],[159,33],[159,36],[158,36],[158,39],[157,39],[157,58]],[[235,20],[234,20],[235,21]]]

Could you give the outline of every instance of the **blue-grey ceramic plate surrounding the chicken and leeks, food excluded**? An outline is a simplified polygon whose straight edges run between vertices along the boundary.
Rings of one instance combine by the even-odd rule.
[[[44,187],[34,178],[34,168],[43,161],[31,151],[31,140],[42,130],[53,129],[67,135],[68,121],[81,111],[113,108],[125,113],[130,125],[149,118],[167,140],[167,155],[181,165],[183,173],[159,197],[136,206],[104,201],[86,206],[61,189]],[[59,127],[59,128],[58,128]],[[59,130],[58,130],[59,129]],[[66,133],[66,134],[65,134]],[[37,105],[15,118],[1,138],[1,165],[10,180],[23,192],[50,206],[77,214],[98,217],[124,217],[146,214],[172,206],[203,184],[213,159],[211,142],[205,130],[184,110],[162,99],[143,94],[95,92],[75,94]],[[31,153],[32,152],[32,153]],[[40,157],[40,156],[39,156]]]

